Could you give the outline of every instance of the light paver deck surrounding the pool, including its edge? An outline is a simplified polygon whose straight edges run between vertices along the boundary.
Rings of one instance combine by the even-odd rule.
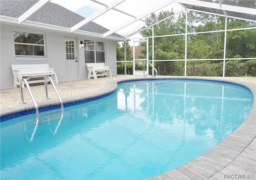
[[[142,76],[116,75],[98,79],[80,79],[65,81],[56,84],[64,103],[87,99],[106,94],[116,89],[116,83],[128,79],[141,79]],[[163,174],[159,174],[149,180],[222,180],[222,179],[256,179],[256,78],[252,77],[167,77],[158,78],[188,78],[210,79],[228,81],[244,85],[253,94],[254,102],[252,109],[234,132],[224,138],[220,143],[202,154],[198,158]],[[51,100],[44,100],[44,85],[31,86],[32,92],[39,107],[58,103],[58,97],[52,85],[48,85],[48,93]],[[1,117],[33,109],[32,99],[28,91],[24,89],[25,105],[20,105],[20,88],[1,89],[0,91]]]

